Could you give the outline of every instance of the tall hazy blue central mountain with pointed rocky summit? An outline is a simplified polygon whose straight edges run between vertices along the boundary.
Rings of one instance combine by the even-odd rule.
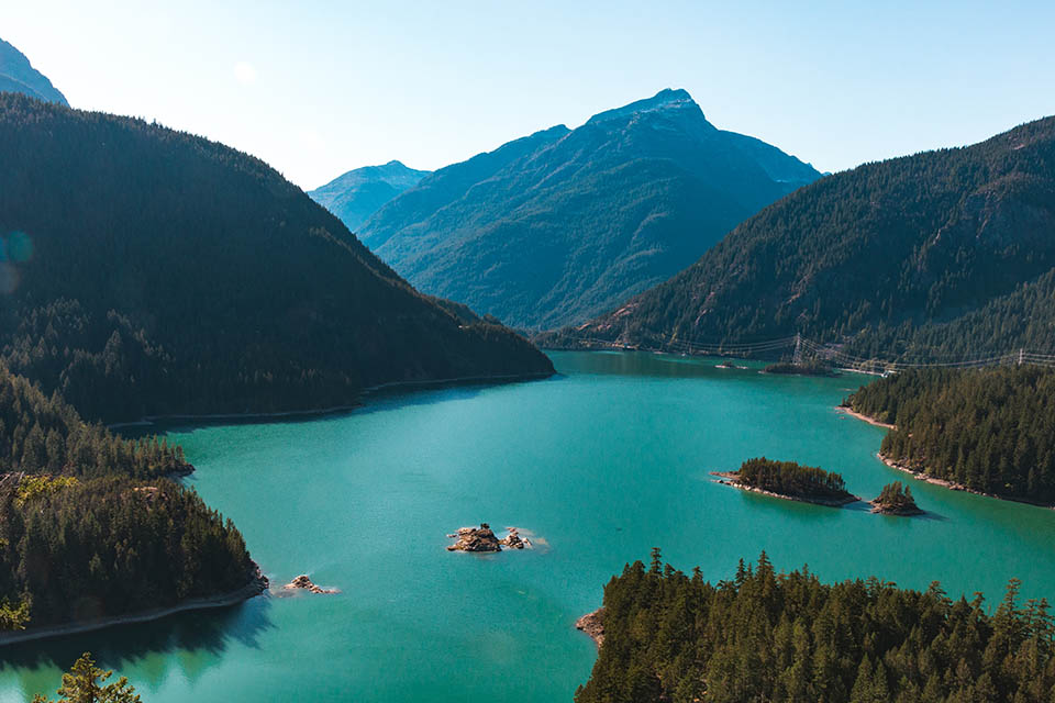
[[[818,177],[664,90],[440,169],[359,234],[425,292],[552,327],[663,280]]]

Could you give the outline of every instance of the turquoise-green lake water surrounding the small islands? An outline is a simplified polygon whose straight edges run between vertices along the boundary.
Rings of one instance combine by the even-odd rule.
[[[913,482],[926,518],[833,510],[710,480],[751,456],[840,471],[873,498],[903,478],[882,429],[837,413],[867,379],[771,377],[713,359],[555,353],[562,376],[376,398],[304,422],[174,427],[190,480],[273,583],[341,595],[254,599],[0,650],[0,703],[54,691],[86,649],[147,703],[570,701],[595,658],[571,628],[653,546],[729,578],[766,549],[822,579],[879,576],[953,595],[1055,599],[1055,512]],[[449,554],[445,533],[517,525],[548,546]]]

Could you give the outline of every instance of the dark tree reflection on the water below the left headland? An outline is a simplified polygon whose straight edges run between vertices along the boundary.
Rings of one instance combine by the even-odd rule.
[[[4,671],[16,669],[24,700],[34,693],[51,694],[63,671],[90,651],[100,668],[129,677],[140,693],[157,688],[174,667],[195,683],[219,663],[232,641],[259,648],[260,635],[275,626],[269,607],[265,595],[231,607],[177,613],[153,623],[0,648],[0,680]]]

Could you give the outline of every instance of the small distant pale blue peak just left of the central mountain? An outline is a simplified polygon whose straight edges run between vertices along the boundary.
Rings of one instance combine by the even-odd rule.
[[[430,172],[408,168],[400,161],[364,166],[334,178],[325,186],[309,190],[308,194],[355,232],[381,205],[417,186]]]

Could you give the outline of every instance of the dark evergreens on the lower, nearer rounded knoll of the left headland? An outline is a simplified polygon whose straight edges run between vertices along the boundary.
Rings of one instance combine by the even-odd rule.
[[[21,506],[0,483],[0,599],[30,626],[134,613],[245,585],[242,535],[167,479],[79,481]]]

